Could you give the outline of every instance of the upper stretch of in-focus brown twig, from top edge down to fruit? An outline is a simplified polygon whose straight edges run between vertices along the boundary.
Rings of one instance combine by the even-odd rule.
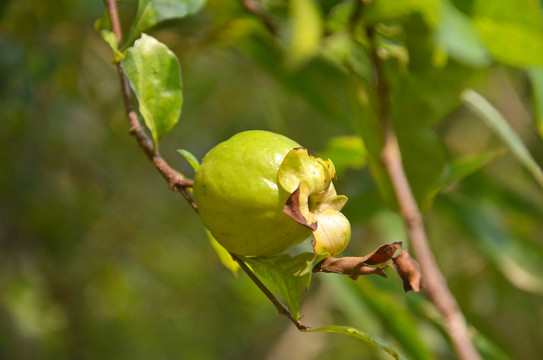
[[[119,14],[117,11],[117,3],[115,2],[115,0],[105,0],[105,1],[106,1],[108,13],[109,13],[109,18],[111,20],[111,27],[113,29],[113,33],[115,34],[118,42],[120,43],[123,35],[121,31],[121,23],[119,21]],[[121,81],[121,90],[122,90],[123,102],[126,109],[126,114],[130,122],[129,133],[136,138],[138,145],[143,150],[145,155],[147,155],[147,158],[149,158],[149,160],[153,162],[153,164],[155,165],[155,168],[160,172],[160,174],[164,177],[164,179],[166,179],[166,181],[168,182],[168,185],[170,186],[170,189],[180,193],[181,196],[183,196],[185,200],[187,200],[190,206],[194,210],[197,210],[196,202],[194,201],[191,193],[187,189],[189,187],[192,187],[193,185],[192,180],[185,179],[185,177],[182,174],[174,170],[166,162],[166,160],[164,160],[164,158],[159,154],[159,152],[156,151],[155,146],[153,145],[153,142],[147,136],[147,134],[143,130],[143,127],[141,126],[140,120],[138,118],[138,114],[134,110],[130,83],[128,81],[128,78],[124,74],[123,69],[121,68],[121,64],[119,63],[117,64],[117,72],[119,74],[119,78]]]

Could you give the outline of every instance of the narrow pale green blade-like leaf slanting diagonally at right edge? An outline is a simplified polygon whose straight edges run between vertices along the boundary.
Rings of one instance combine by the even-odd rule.
[[[471,111],[477,114],[496,133],[517,160],[533,175],[539,185],[543,187],[543,171],[520,137],[498,110],[484,97],[471,89],[467,89],[462,93],[462,100]]]

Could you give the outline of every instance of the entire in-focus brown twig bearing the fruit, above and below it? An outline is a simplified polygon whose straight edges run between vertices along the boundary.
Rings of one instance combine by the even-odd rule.
[[[117,38],[122,38],[120,21],[117,13],[117,4],[115,0],[105,0],[108,13],[111,19],[113,32]],[[130,89],[130,83],[128,78],[125,76],[123,69],[120,64],[117,64],[117,71],[121,80],[121,89],[123,95],[123,101],[126,108],[126,114],[130,123],[129,133],[133,135],[140,148],[143,150],[145,155],[153,162],[160,174],[166,179],[170,188],[174,191],[179,192],[191,205],[194,211],[198,212],[198,206],[192,198],[191,193],[187,190],[188,187],[192,187],[193,181],[187,180],[179,172],[174,170],[167,162],[162,158],[159,153],[155,150],[152,140],[147,136],[143,131],[138,114],[134,109],[132,102],[131,94],[132,90]],[[296,320],[294,316],[290,313],[288,308],[286,308],[277,298],[271,293],[271,291],[266,288],[266,286],[256,277],[252,270],[236,255],[230,253],[234,261],[236,261],[242,270],[249,276],[249,278],[255,283],[255,285],[266,295],[268,299],[273,303],[273,305],[279,311],[279,314],[286,316],[299,330],[306,330],[308,327],[304,325],[300,320]]]

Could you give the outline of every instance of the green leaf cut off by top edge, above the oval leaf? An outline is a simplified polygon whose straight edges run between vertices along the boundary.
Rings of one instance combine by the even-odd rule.
[[[138,12],[132,22],[126,45],[130,46],[143,31],[159,22],[197,13],[205,2],[205,0],[139,0]]]

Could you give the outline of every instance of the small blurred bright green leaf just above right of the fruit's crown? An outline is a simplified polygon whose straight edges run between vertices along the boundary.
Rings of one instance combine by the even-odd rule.
[[[328,141],[320,157],[332,160],[339,176],[347,169],[363,168],[367,162],[367,151],[360,136],[336,136]]]

